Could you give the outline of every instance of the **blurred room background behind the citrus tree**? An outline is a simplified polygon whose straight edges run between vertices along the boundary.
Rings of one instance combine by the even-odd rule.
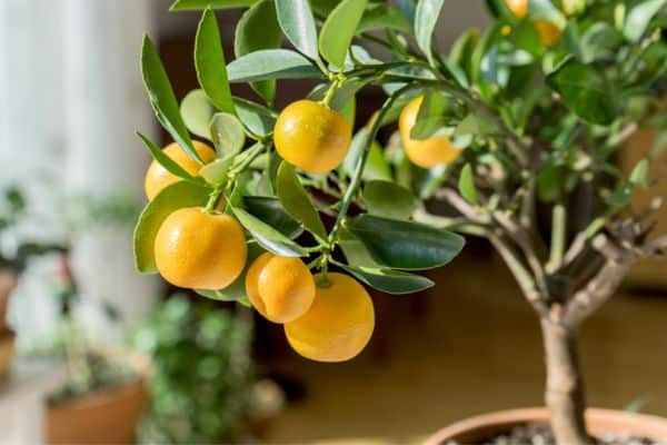
[[[374,294],[369,347],[336,365],[298,357],[246,308],[135,271],[149,164],[135,131],[169,142],[140,78],[145,31],[178,98],[197,87],[199,14],[169,3],[0,0],[0,443],[417,443],[540,405],[537,320],[482,241],[432,271],[428,293]],[[228,60],[238,17],[218,13]],[[482,2],[450,0],[438,43],[485,23]],[[277,106],[311,87],[286,82]],[[382,100],[361,95],[358,123]],[[667,416],[665,270],[640,265],[584,327],[591,405]]]

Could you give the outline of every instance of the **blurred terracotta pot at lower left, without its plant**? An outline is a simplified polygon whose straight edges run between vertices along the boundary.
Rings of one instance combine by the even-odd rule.
[[[47,408],[49,444],[132,444],[147,402],[142,378]]]

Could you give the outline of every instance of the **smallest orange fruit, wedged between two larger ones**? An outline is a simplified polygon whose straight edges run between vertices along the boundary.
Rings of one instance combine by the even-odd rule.
[[[246,293],[252,306],[273,323],[303,315],[315,299],[315,279],[299,258],[260,255],[246,275]]]

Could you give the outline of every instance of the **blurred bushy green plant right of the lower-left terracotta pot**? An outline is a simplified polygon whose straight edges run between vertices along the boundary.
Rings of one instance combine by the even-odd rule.
[[[135,342],[152,357],[139,442],[230,443],[275,413],[280,393],[266,382],[258,386],[251,330],[248,317],[209,301],[177,295],[161,303]]]

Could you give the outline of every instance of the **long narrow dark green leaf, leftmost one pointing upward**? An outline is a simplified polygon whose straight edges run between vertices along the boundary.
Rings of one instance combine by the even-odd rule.
[[[201,162],[201,158],[199,158],[192,146],[188,129],[181,119],[167,71],[165,71],[158,50],[148,36],[143,37],[141,47],[141,73],[150,98],[150,105],[162,127],[192,159]]]

